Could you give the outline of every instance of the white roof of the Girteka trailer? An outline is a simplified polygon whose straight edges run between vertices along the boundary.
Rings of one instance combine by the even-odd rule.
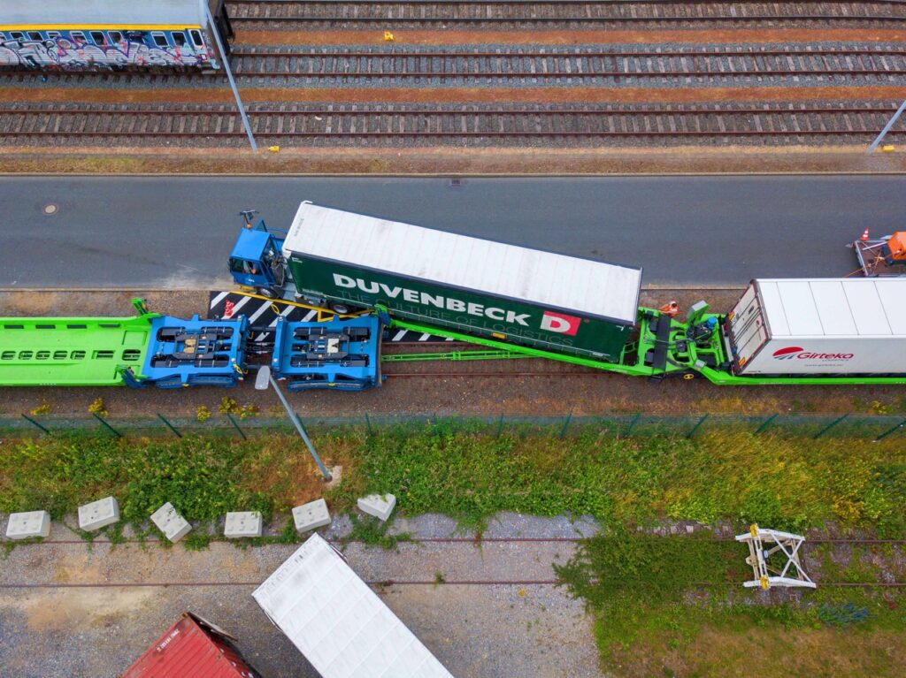
[[[771,337],[906,337],[906,278],[756,283]]]

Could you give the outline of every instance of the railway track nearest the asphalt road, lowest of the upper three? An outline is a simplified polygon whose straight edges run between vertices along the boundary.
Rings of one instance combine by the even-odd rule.
[[[821,106],[252,106],[263,144],[846,143],[882,128],[896,102]],[[893,138],[906,133],[893,129]],[[245,144],[229,106],[17,104],[0,108],[5,144],[97,144],[103,139],[157,143]]]

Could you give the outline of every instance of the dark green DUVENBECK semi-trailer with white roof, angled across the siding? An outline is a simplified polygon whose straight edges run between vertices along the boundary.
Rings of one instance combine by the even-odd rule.
[[[637,320],[640,268],[308,202],[284,257],[313,300],[535,349],[615,362]]]

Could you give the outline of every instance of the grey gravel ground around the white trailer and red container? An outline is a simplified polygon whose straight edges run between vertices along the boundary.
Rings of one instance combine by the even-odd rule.
[[[328,536],[345,530],[346,522]],[[400,520],[416,538],[448,537],[455,525],[438,516]],[[487,537],[574,537],[590,521],[503,515]],[[56,543],[54,543],[54,541]],[[13,550],[0,570],[0,665],[19,678],[114,676],[190,609],[239,638],[246,658],[265,678],[316,676],[255,606],[250,593],[294,546],[240,550],[216,543],[181,547],[92,549],[72,542],[54,524],[51,543]],[[582,604],[549,584],[436,584],[456,581],[549,581],[572,542],[400,543],[397,550],[352,543],[350,565],[460,678],[464,676],[598,676],[591,620]],[[173,586],[192,582],[217,586]],[[91,587],[158,582],[158,587]],[[15,587],[23,584],[43,587]],[[53,585],[69,587],[52,587]],[[72,586],[81,585],[81,586]],[[12,586],[12,587],[11,587]],[[52,649],[49,649],[52,648]]]

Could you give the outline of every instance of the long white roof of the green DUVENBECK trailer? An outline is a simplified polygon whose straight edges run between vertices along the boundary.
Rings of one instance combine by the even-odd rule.
[[[641,269],[496,243],[304,202],[284,255],[376,271],[634,323]]]

